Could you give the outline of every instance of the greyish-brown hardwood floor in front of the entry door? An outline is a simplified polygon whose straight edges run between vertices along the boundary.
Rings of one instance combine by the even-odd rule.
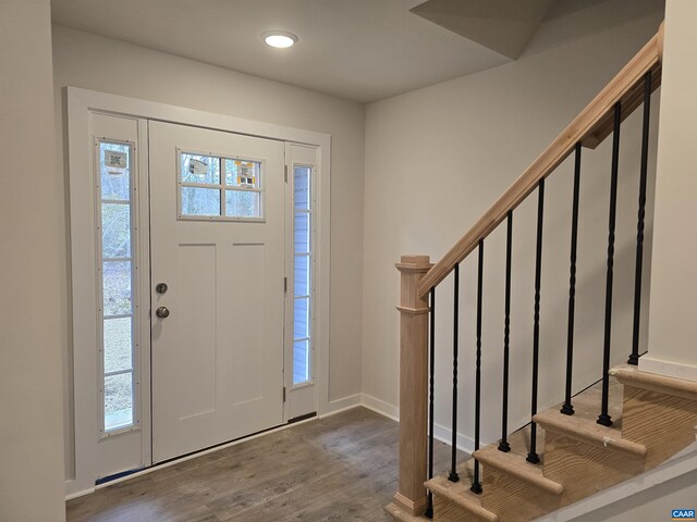
[[[70,500],[68,520],[390,521],[398,438],[396,422],[354,408]],[[436,446],[440,472],[450,451]]]

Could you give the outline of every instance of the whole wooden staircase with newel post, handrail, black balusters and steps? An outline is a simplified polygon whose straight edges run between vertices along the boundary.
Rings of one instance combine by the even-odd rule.
[[[641,259],[646,211],[646,184],[651,92],[660,85],[663,46],[658,34],[600,91],[560,136],[506,189],[493,206],[435,264],[428,256],[403,256],[395,266],[401,272],[400,306],[400,470],[399,488],[386,507],[394,520],[442,522],[529,521],[577,502],[603,489],[651,470],[696,439],[697,382],[639,371],[641,326]],[[615,211],[622,121],[644,108],[634,323],[628,364],[611,370]],[[576,246],[578,179],[583,148],[595,148],[612,135],[612,164],[604,296],[604,343],[601,384],[577,395],[571,403],[573,381],[574,310],[576,293]],[[538,412],[540,273],[545,181],[566,158],[574,154],[574,198],[571,229],[568,287],[568,336],[566,347],[565,400]],[[533,372],[530,424],[509,436],[509,333],[512,217],[518,204],[537,194],[535,253],[535,314],[533,322]],[[480,448],[481,426],[481,323],[485,240],[506,223],[505,303],[502,364],[500,444]],[[456,469],[458,414],[458,303],[460,265],[478,253],[476,287],[476,355],[474,364],[473,459]],[[451,470],[433,476],[436,288],[452,274],[453,339]],[[566,291],[565,288],[561,291]],[[439,294],[440,295],[440,294]],[[440,302],[440,301],[439,301]],[[626,304],[625,304],[626,306]],[[438,312],[440,313],[440,312]],[[598,325],[598,327],[601,327]],[[472,335],[472,333],[470,333]],[[442,338],[439,334],[439,338]],[[487,370],[485,368],[485,370]],[[489,375],[490,376],[490,375]],[[588,384],[588,383],[586,383]],[[578,385],[578,383],[576,383]],[[439,394],[441,397],[442,391]],[[469,397],[467,397],[469,399]],[[549,399],[549,398],[548,398]],[[440,400],[440,399],[439,399]],[[545,401],[542,401],[545,402]],[[547,402],[549,403],[549,402]],[[487,408],[490,408],[488,405]],[[598,414],[600,412],[600,414]],[[488,411],[488,415],[491,415]],[[498,412],[494,412],[494,415]],[[519,424],[518,424],[519,425]],[[467,434],[469,436],[470,434]],[[506,440],[508,438],[508,440]],[[508,449],[510,444],[510,450]],[[451,482],[450,478],[456,482]],[[426,482],[425,482],[426,481]],[[472,486],[472,488],[470,488]],[[427,495],[426,492],[430,492]]]

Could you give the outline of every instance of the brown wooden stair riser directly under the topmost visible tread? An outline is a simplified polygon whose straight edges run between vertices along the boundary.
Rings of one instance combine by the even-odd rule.
[[[697,401],[624,386],[622,436],[644,444],[646,470],[695,442]]]

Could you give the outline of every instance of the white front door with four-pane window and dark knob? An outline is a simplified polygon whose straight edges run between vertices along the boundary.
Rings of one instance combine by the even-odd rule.
[[[161,462],[283,422],[284,144],[150,122],[149,161]]]

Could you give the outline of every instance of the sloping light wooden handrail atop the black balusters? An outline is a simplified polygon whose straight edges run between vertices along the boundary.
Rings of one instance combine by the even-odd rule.
[[[580,141],[584,146],[597,147],[611,132],[608,126],[612,109],[622,102],[622,119],[628,116],[640,104],[644,75],[651,71],[652,89],[660,85],[661,55],[663,51],[663,26],[620,73],[594,98],[573,122],[552,141],[530,166],[511,185],[443,258],[433,265],[418,284],[418,297],[426,295],[443,281],[455,264],[464,260],[534,189],[540,179],[549,176]]]

